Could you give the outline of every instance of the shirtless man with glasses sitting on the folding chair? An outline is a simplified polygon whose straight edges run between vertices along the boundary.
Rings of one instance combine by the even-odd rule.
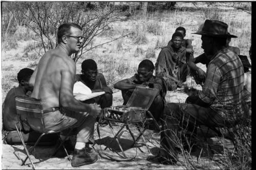
[[[61,131],[65,139],[68,129],[76,130],[76,144],[72,157],[73,167],[91,164],[98,156],[89,148],[93,138],[95,117],[101,113],[96,104],[85,104],[74,98],[76,64],[71,55],[78,53],[83,44],[82,28],[76,23],[63,23],[57,32],[58,45],[39,60],[31,76],[31,96],[41,99],[45,113],[46,130]],[[31,128],[36,129],[38,119],[28,118]]]

